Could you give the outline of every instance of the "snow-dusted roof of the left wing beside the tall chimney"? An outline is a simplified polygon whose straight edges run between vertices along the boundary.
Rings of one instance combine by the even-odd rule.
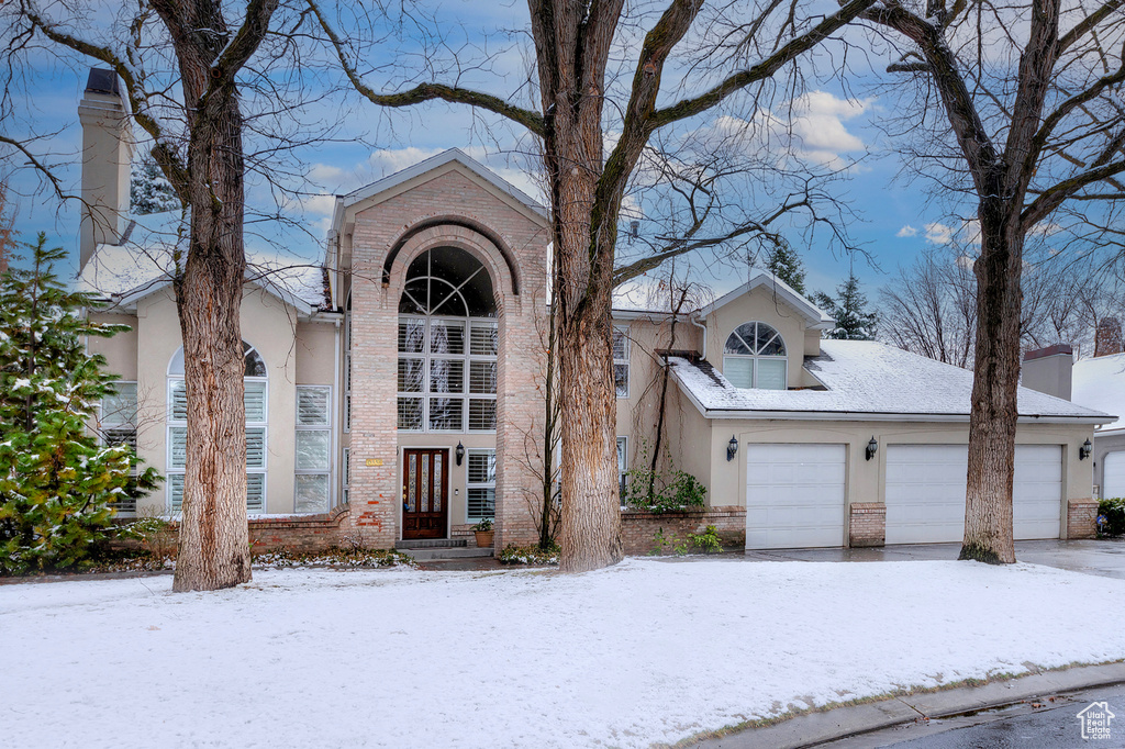
[[[75,281],[78,291],[129,308],[172,282],[176,253],[187,251],[187,226],[177,211],[137,216],[122,244],[99,244]],[[246,280],[305,314],[330,308],[325,271],[316,263],[246,250]]]

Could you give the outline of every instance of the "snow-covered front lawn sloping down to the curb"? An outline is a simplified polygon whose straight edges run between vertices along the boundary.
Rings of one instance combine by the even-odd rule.
[[[629,560],[0,586],[6,747],[645,747],[1125,657],[1125,580],[970,562]]]

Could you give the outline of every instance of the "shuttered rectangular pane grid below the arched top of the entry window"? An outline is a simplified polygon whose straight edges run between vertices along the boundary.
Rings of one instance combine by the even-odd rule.
[[[496,322],[398,318],[398,428],[496,430]]]

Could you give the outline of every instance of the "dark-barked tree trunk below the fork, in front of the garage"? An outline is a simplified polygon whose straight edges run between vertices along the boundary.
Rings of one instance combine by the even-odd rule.
[[[999,189],[998,195],[1002,195]],[[1012,563],[1016,390],[1019,383],[1020,270],[1024,234],[1018,205],[981,201],[976,274],[976,346],[969,418],[965,538],[961,559]]]

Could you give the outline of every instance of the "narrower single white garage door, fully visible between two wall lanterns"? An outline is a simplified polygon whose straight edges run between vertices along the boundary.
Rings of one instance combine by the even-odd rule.
[[[746,548],[844,545],[842,444],[746,446]]]

